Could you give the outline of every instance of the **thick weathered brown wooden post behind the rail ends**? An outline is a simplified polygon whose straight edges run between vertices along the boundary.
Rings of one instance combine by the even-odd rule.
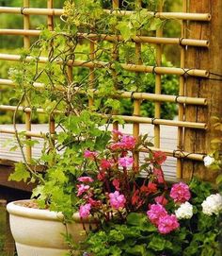
[[[194,13],[209,12],[212,14],[212,20],[209,23],[190,22],[187,31],[189,38],[208,39],[210,40],[210,47],[209,49],[188,47],[186,68],[201,68],[222,75],[222,1],[190,0],[189,11]],[[211,140],[216,136],[211,118],[222,116],[222,81],[187,77],[185,94],[207,98],[208,107],[186,106],[185,119],[186,121],[206,122],[208,129],[200,131],[185,128],[184,151],[210,153]],[[182,178],[191,179],[192,175],[198,176],[200,179],[214,181],[216,173],[207,170],[203,162],[185,160],[182,165]]]

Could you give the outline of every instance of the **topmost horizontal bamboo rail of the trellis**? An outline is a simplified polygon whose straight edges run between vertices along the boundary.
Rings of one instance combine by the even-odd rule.
[[[131,15],[134,11],[119,10],[114,11],[110,9],[104,9],[104,12],[113,15]],[[55,15],[61,16],[64,14],[63,9],[35,9],[35,8],[6,8],[1,7],[0,13],[13,13],[13,14],[24,14],[24,15]],[[208,22],[211,20],[210,13],[183,13],[183,12],[154,12],[148,11],[148,15],[151,15],[160,19],[177,19],[187,21],[200,21]]]

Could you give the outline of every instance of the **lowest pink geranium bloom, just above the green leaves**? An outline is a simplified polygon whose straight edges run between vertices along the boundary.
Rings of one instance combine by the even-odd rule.
[[[176,230],[180,227],[177,217],[174,214],[166,215],[159,218],[158,221],[158,230],[160,233],[166,234],[172,230]]]

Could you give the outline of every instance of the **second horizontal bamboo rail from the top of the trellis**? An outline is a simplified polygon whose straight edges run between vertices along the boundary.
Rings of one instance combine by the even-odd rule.
[[[40,30],[27,30],[27,29],[0,29],[0,35],[14,35],[14,36],[40,36]],[[108,42],[123,42],[122,36],[105,35],[105,34],[87,34],[78,33],[79,38],[97,41]],[[209,47],[210,42],[208,40],[195,40],[185,38],[160,38],[160,37],[145,37],[135,36],[132,39],[135,43],[163,43],[163,44],[182,44],[188,46]]]

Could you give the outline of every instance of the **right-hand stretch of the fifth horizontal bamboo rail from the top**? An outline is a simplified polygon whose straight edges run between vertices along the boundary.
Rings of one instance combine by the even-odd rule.
[[[175,120],[166,120],[166,119],[158,119],[158,118],[151,118],[151,117],[103,114],[103,118],[107,118],[107,119],[119,118],[126,122],[151,124],[151,125],[163,125],[163,126],[179,127],[179,128],[199,128],[199,129],[207,128],[205,123],[175,121]]]

